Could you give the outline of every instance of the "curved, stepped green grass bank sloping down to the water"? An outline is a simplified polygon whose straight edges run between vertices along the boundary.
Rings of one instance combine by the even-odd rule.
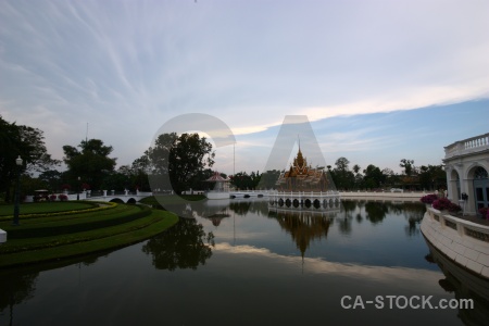
[[[0,223],[8,241],[0,246],[0,267],[55,261],[128,246],[171,227],[170,212],[118,204],[99,212],[46,216]]]

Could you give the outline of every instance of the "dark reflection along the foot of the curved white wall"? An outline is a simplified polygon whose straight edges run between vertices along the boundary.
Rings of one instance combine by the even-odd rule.
[[[472,299],[474,309],[459,309],[457,317],[466,325],[487,325],[489,316],[489,280],[474,275],[446,258],[426,240],[429,254],[426,260],[437,263],[444,279],[438,283],[447,292],[455,292],[455,299]]]

